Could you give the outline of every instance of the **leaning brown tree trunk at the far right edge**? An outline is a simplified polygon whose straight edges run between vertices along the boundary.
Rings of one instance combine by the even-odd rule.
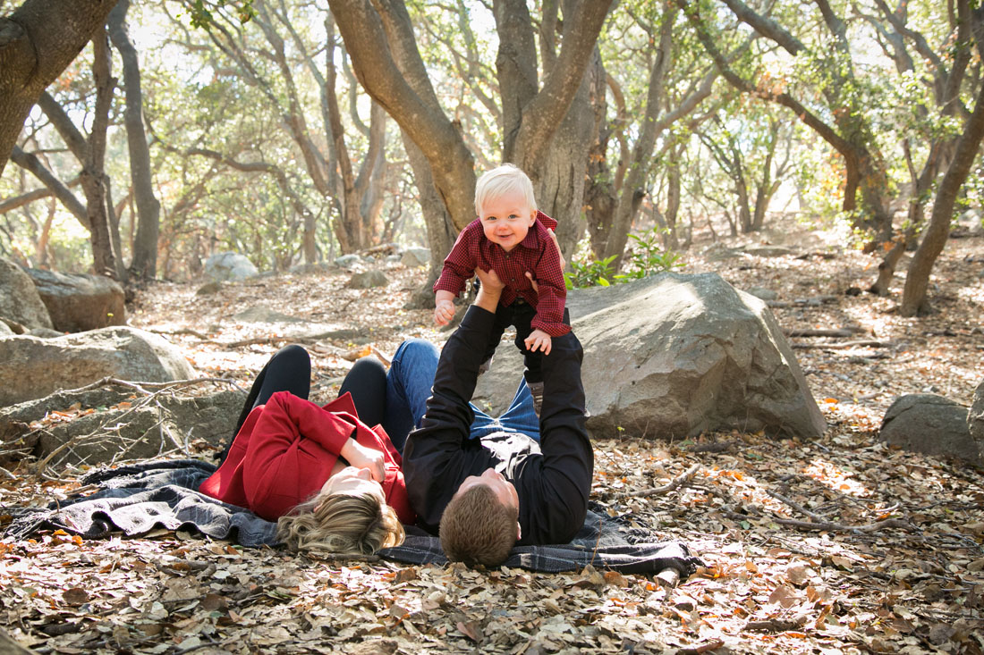
[[[978,11],[984,13],[984,8]],[[984,29],[979,28],[978,31],[984,31]],[[979,51],[984,54],[981,40],[984,38],[979,38],[977,45]],[[977,156],[977,149],[980,148],[982,139],[984,139],[984,85],[981,85],[977,90],[974,111],[964,124],[963,134],[956,142],[953,160],[950,162],[936,193],[929,226],[926,228],[922,242],[916,249],[912,263],[905,274],[902,304],[899,307],[899,313],[902,316],[915,316],[930,311],[930,304],[926,298],[929,275],[933,271],[936,258],[940,256],[943,247],[947,244],[956,195],[967,179],[967,174]]]

